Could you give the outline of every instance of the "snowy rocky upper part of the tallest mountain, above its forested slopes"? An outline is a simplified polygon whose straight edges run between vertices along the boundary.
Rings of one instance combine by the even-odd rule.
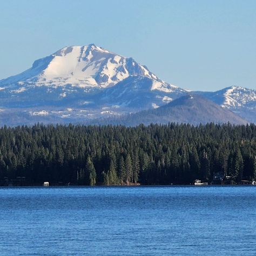
[[[152,90],[172,90],[169,85],[132,58],[125,58],[94,44],[70,46],[36,60],[19,75],[0,80],[1,87],[18,87],[14,92],[31,86],[111,87],[129,76],[152,79]],[[22,89],[20,89],[22,88]]]

